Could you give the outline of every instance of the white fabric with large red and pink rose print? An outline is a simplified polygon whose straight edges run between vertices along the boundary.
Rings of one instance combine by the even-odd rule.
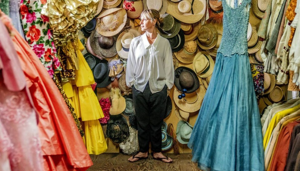
[[[49,18],[41,14],[46,0],[21,0],[20,14],[26,41],[45,66],[49,75],[61,71],[56,55]]]

